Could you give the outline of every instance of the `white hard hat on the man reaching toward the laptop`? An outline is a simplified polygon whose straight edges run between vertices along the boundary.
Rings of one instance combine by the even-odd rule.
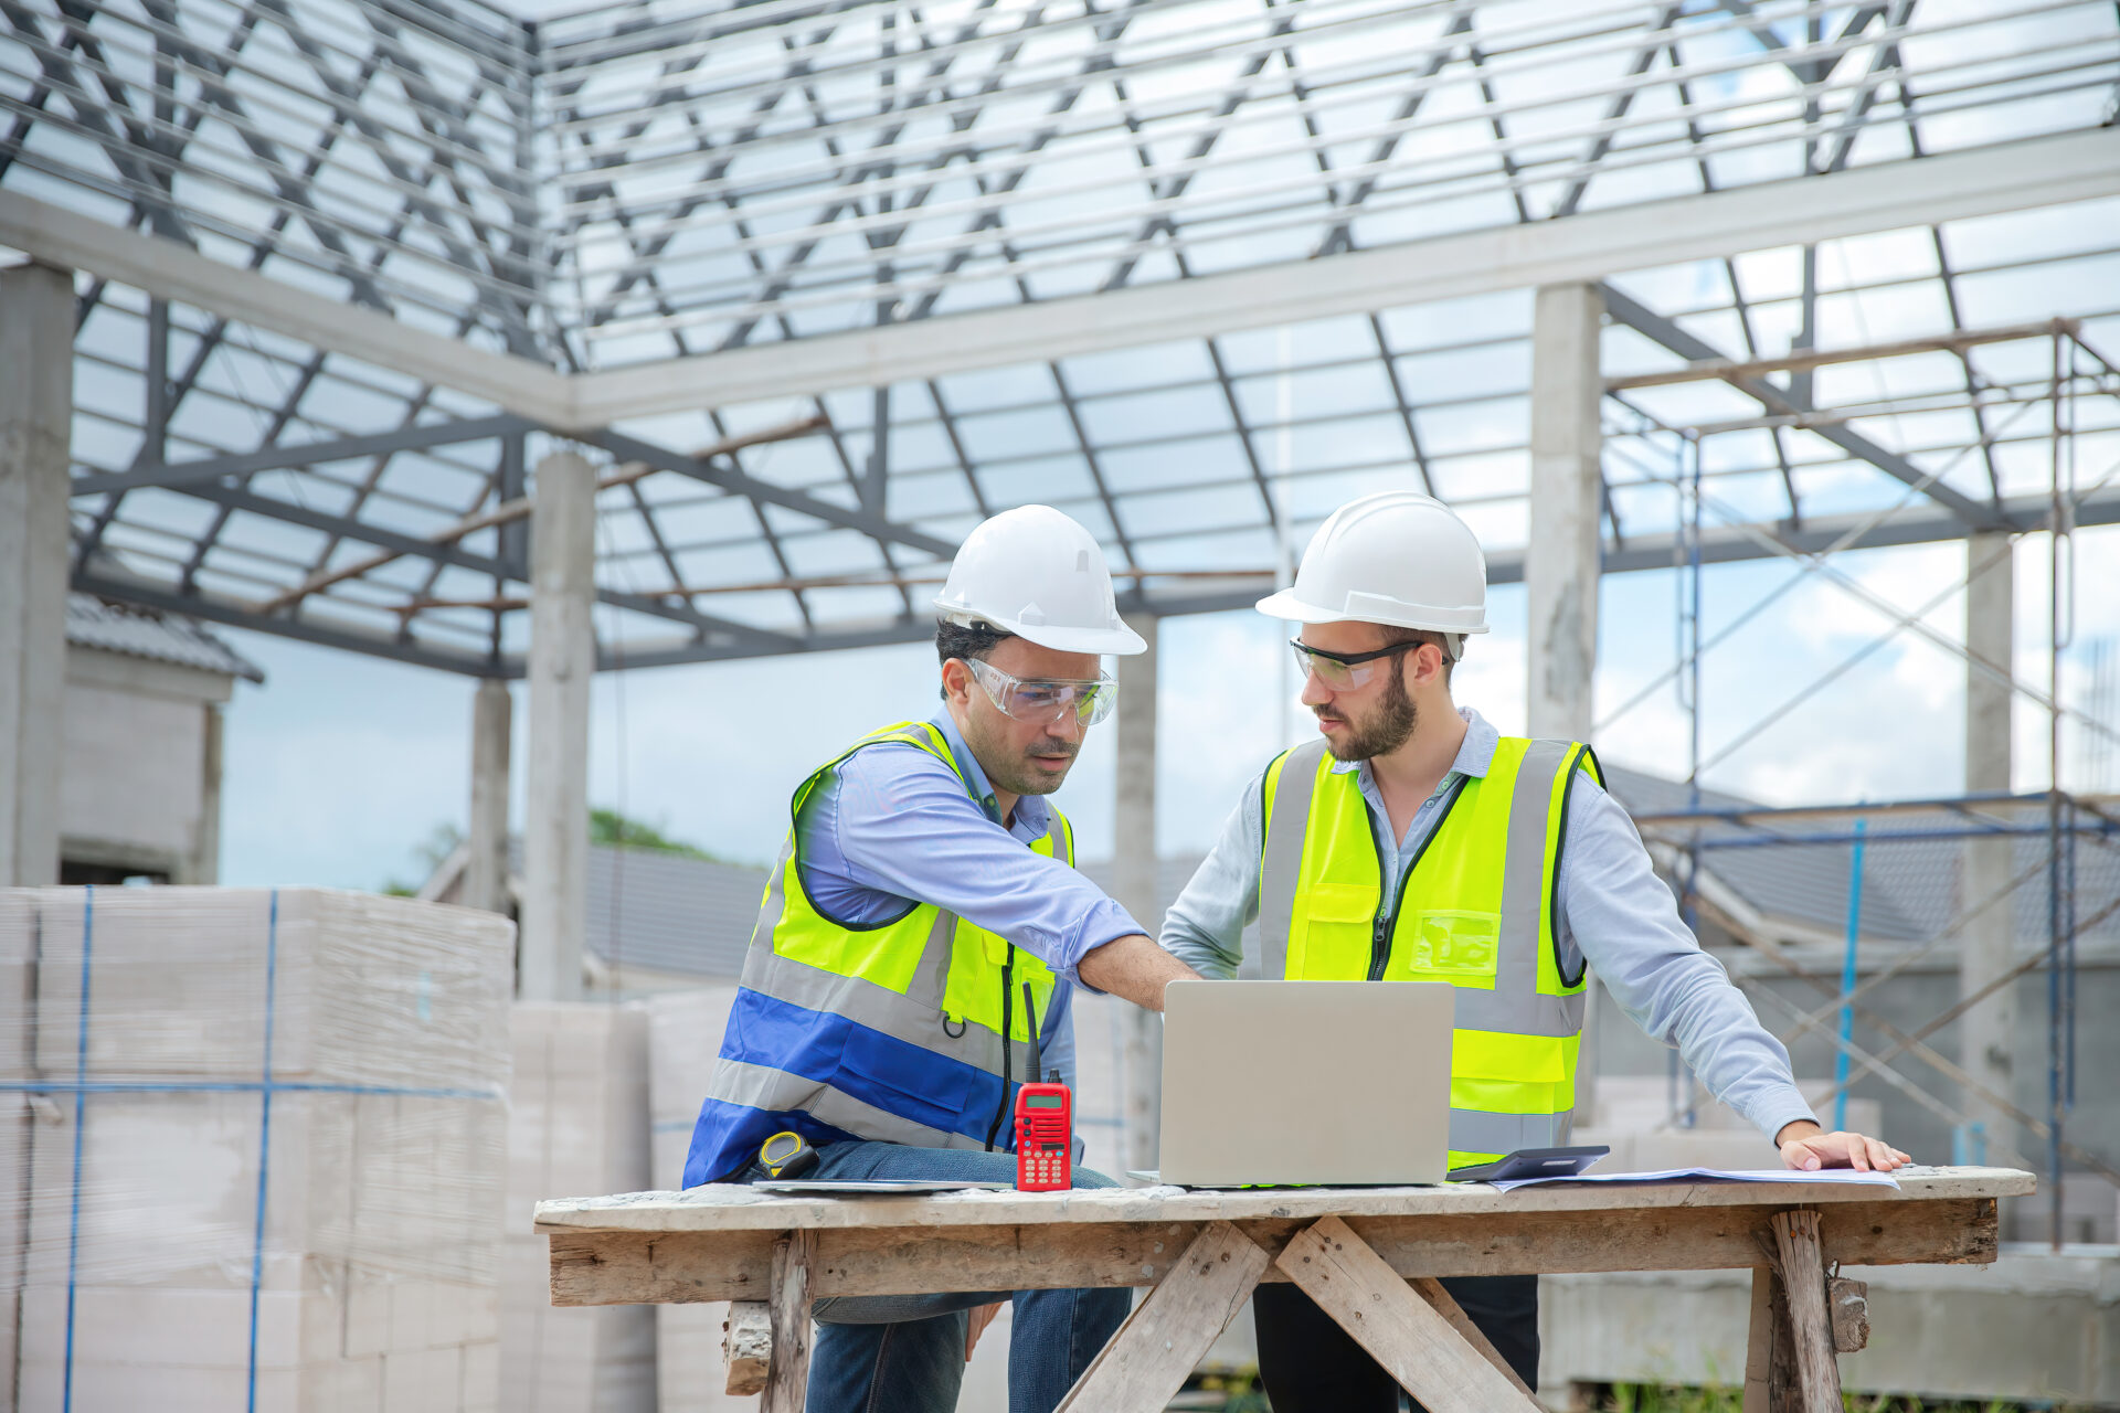
[[[1105,551],[1052,506],[1015,506],[979,523],[935,595],[948,623],[992,623],[1056,652],[1147,652],[1119,619]]]

